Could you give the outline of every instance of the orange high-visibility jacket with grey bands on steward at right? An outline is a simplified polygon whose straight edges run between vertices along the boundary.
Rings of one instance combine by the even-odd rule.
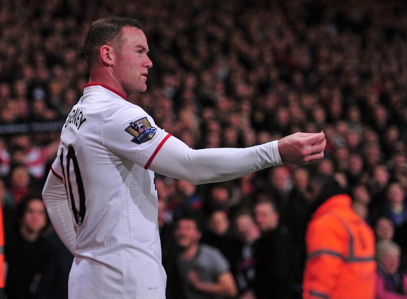
[[[333,196],[315,211],[306,247],[304,299],[374,299],[374,235],[349,196]]]

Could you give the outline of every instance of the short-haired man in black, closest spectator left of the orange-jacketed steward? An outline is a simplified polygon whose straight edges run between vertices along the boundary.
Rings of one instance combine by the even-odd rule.
[[[254,206],[255,221],[261,237],[254,244],[256,281],[254,290],[258,299],[291,298],[292,246],[288,230],[279,223],[280,215],[273,202],[259,202]]]

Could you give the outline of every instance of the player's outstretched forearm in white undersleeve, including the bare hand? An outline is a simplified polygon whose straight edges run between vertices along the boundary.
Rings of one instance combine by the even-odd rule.
[[[295,133],[248,148],[193,150],[170,137],[150,165],[154,172],[194,184],[227,181],[284,163],[304,165],[324,157],[324,133]]]

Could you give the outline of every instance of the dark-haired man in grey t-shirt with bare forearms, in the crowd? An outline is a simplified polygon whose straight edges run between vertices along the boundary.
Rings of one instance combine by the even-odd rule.
[[[177,265],[185,298],[220,298],[237,295],[236,284],[226,259],[218,250],[199,244],[201,232],[194,219],[179,219],[175,236],[181,248]]]

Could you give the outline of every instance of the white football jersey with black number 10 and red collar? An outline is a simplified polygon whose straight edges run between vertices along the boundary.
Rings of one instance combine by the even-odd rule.
[[[169,137],[119,92],[85,85],[52,165],[76,231],[70,298],[165,298],[157,191],[148,168]]]

